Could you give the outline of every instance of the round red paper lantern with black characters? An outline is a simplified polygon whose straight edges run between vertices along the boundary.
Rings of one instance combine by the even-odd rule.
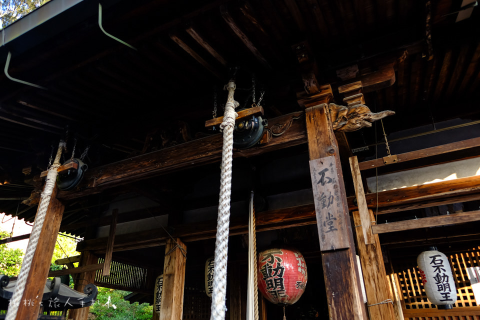
[[[272,248],[258,254],[258,288],[275,304],[293,304],[305,291],[303,255],[294,249]]]

